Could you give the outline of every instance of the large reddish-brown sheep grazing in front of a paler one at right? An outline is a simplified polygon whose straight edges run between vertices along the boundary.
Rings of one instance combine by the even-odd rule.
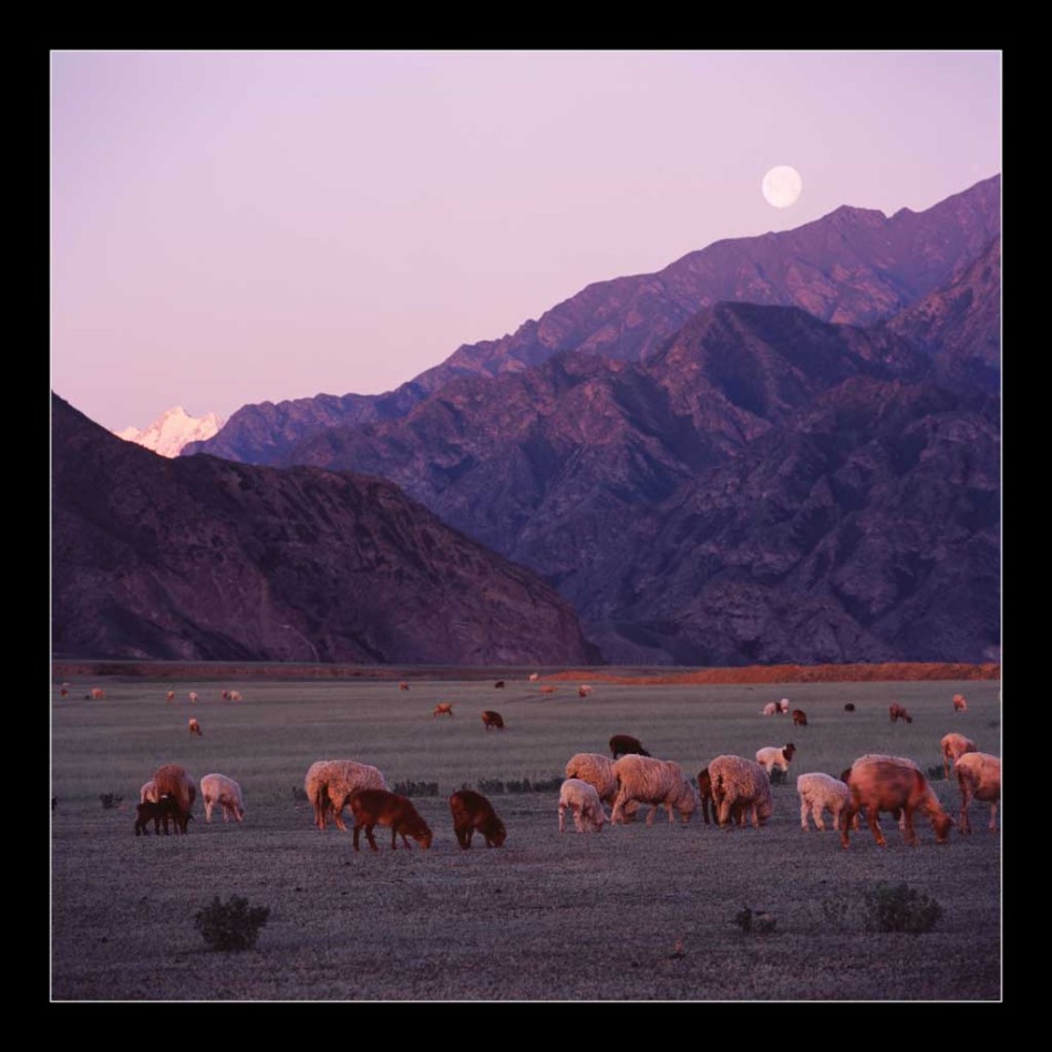
[[[877,824],[877,816],[881,811],[894,811],[896,807],[903,809],[903,836],[911,847],[918,843],[914,831],[916,811],[931,821],[936,842],[946,843],[953,819],[942,809],[938,796],[912,760],[876,754],[860,756],[852,764],[847,785],[852,802],[844,812],[840,827],[840,844],[844,847],[848,846],[848,828],[860,807],[866,808],[869,828],[880,847],[886,847],[887,840]]]

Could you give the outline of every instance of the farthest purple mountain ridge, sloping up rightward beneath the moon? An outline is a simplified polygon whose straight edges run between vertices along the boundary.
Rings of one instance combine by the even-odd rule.
[[[721,301],[798,307],[823,321],[868,326],[916,303],[1000,233],[1000,176],[934,207],[890,218],[842,207],[795,230],[716,241],[658,274],[590,285],[499,340],[461,347],[383,395],[319,395],[238,410],[184,452],[279,463],[328,427],[404,416],[460,377],[520,372],[565,351],[637,361]]]

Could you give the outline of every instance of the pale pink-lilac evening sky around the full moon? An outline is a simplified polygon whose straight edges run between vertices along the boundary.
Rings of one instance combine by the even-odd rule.
[[[112,430],[379,393],[721,238],[928,208],[1000,151],[996,51],[54,51],[52,386]]]

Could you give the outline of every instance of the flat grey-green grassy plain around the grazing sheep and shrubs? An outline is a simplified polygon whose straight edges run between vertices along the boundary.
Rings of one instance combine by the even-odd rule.
[[[502,673],[494,670],[493,678]],[[93,685],[105,700],[85,701]],[[223,687],[243,702],[219,700]],[[1000,836],[973,805],[976,835],[952,831],[937,847],[918,817],[921,846],[904,846],[889,817],[888,847],[867,829],[850,849],[832,833],[800,828],[795,776],[838,773],[867,752],[939,764],[950,730],[1000,754],[998,681],[621,685],[573,684],[542,695],[519,678],[217,683],[76,680],[52,707],[52,997],[87,999],[997,999],[1000,997]],[[165,691],[178,698],[166,703]],[[190,705],[187,692],[198,690]],[[968,698],[955,714],[950,699]],[[809,726],[763,718],[787,697]],[[455,718],[432,719],[439,701]],[[844,703],[857,705],[844,712]],[[912,724],[891,724],[898,701]],[[497,709],[507,730],[487,733]],[[204,736],[192,738],[195,715]],[[774,786],[762,829],[722,832],[700,812],[669,826],[662,811],[599,836],[557,828],[557,791],[491,800],[508,828],[501,849],[478,837],[462,852],[446,797],[479,780],[553,778],[575,752],[607,752],[633,734],[690,775],[720,753],[752,756],[795,742],[787,784]],[[434,846],[355,855],[350,834],[312,825],[296,798],[319,759],[379,766],[389,784],[436,782],[414,803]],[[241,783],[246,819],[204,821],[186,837],[135,837],[138,787],[162,763],[196,778]],[[937,793],[956,815],[956,783]],[[100,795],[123,796],[105,809]],[[348,815],[349,817],[349,815]],[[349,823],[350,825],[350,823]],[[365,847],[364,840],[362,843]],[[855,908],[875,881],[906,881],[943,907],[926,935],[865,930]],[[213,896],[246,896],[271,909],[254,950],[215,953],[194,927]],[[823,904],[826,904],[824,908]],[[829,919],[837,904],[843,918]],[[749,906],[775,921],[769,935],[733,922]]]

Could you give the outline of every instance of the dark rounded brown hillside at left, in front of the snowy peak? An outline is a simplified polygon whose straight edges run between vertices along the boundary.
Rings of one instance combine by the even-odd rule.
[[[163,460],[52,401],[53,648],[96,658],[578,664],[530,571],[379,478]]]

